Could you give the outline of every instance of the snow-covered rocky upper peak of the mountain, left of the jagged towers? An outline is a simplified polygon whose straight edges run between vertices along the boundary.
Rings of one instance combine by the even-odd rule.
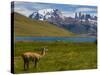
[[[50,18],[63,18],[63,15],[58,9],[41,9],[33,12],[29,17],[37,20],[50,20]]]

